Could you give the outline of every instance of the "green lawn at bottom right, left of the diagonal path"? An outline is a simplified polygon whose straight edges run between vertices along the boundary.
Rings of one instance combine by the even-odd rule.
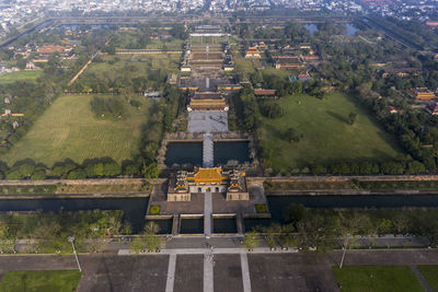
[[[407,266],[350,266],[333,268],[342,291],[348,292],[416,292],[424,291]]]

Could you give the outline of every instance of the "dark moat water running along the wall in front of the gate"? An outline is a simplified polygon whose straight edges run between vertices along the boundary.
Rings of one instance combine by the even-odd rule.
[[[123,210],[124,220],[132,224],[134,232],[140,232],[145,225],[146,208],[149,198],[112,199],[26,199],[0,200],[0,211],[79,211],[79,210]],[[301,203],[308,208],[438,208],[437,195],[384,195],[384,196],[268,196],[267,202],[272,219],[245,219],[245,230],[256,225],[284,223],[283,214],[290,203]],[[172,233],[172,220],[152,220],[160,226],[160,234]],[[183,219],[181,233],[203,234],[204,219]],[[235,233],[235,219],[214,219],[214,233]]]

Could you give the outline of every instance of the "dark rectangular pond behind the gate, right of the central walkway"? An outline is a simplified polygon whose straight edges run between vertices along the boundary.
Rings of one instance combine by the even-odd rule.
[[[239,164],[251,162],[250,142],[215,142],[215,165],[226,165],[230,161],[237,161]]]

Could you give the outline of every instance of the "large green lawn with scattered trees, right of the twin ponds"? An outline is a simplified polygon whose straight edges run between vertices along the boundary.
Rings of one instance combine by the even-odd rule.
[[[331,93],[324,100],[298,94],[279,100],[284,116],[262,119],[262,140],[273,149],[273,167],[304,167],[346,160],[393,159],[400,152],[393,138],[357,105],[353,96]],[[349,113],[357,118],[346,122]],[[281,139],[292,127],[303,138],[296,143]]]

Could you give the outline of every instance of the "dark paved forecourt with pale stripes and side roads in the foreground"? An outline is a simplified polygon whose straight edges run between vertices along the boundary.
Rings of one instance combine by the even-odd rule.
[[[78,291],[339,291],[332,267],[341,256],[341,250],[328,255],[267,248],[246,253],[206,245],[138,256],[80,255],[83,275]],[[345,258],[346,266],[437,264],[436,249],[349,250]],[[77,268],[72,256],[46,255],[3,255],[0,267],[3,273]]]

